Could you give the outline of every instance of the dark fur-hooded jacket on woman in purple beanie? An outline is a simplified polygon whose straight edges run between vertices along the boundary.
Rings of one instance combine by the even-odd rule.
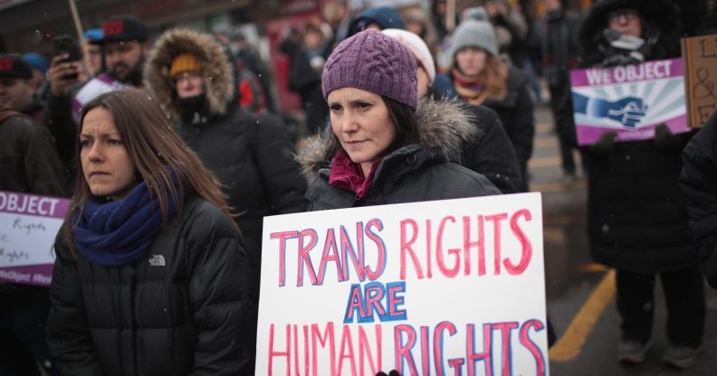
[[[298,155],[313,181],[306,193],[309,211],[501,194],[485,176],[453,162],[460,160],[464,142],[482,134],[458,102],[422,100],[416,117],[420,143],[385,156],[359,200],[329,183],[334,157],[328,147],[330,130],[311,137]]]

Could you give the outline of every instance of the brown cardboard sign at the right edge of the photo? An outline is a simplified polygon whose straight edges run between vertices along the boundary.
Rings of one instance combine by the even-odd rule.
[[[684,92],[690,127],[703,127],[717,109],[717,34],[683,38]]]

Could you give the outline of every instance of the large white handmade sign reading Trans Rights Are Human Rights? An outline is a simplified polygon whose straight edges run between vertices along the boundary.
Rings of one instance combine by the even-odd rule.
[[[548,374],[540,193],[264,218],[257,375]]]

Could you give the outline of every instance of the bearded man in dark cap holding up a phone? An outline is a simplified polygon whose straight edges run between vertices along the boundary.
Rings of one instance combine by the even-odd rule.
[[[46,125],[55,136],[65,170],[72,185],[73,143],[76,125],[84,103],[102,93],[125,88],[141,88],[145,56],[149,52],[147,26],[139,18],[119,14],[102,23],[102,37],[90,41],[103,47],[105,70],[86,82],[79,80],[81,61],[74,43],[57,51],[49,70]],[[67,42],[58,42],[59,46]]]

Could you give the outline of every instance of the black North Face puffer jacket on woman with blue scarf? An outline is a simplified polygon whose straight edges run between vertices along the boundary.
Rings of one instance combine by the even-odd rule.
[[[193,198],[138,261],[101,267],[62,237],[47,341],[62,374],[253,373],[257,309],[234,224]]]

